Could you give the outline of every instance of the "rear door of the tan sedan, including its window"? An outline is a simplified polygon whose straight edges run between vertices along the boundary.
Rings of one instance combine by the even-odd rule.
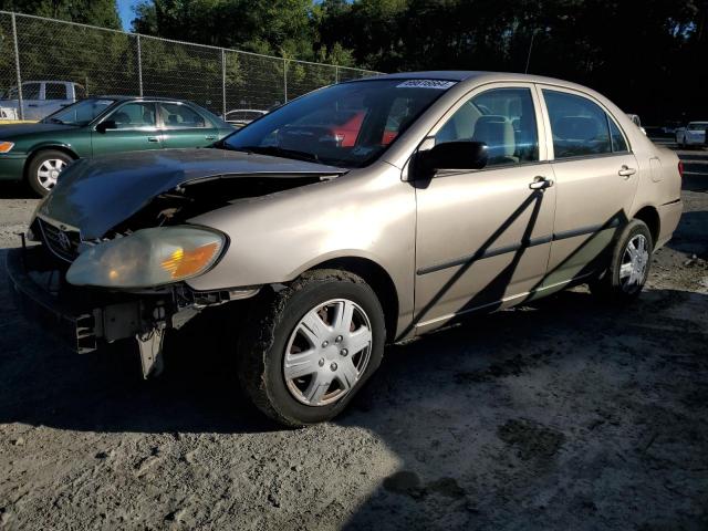
[[[598,101],[576,91],[539,86],[555,174],[556,207],[543,288],[582,278],[598,264],[627,222],[638,183],[626,135]]]

